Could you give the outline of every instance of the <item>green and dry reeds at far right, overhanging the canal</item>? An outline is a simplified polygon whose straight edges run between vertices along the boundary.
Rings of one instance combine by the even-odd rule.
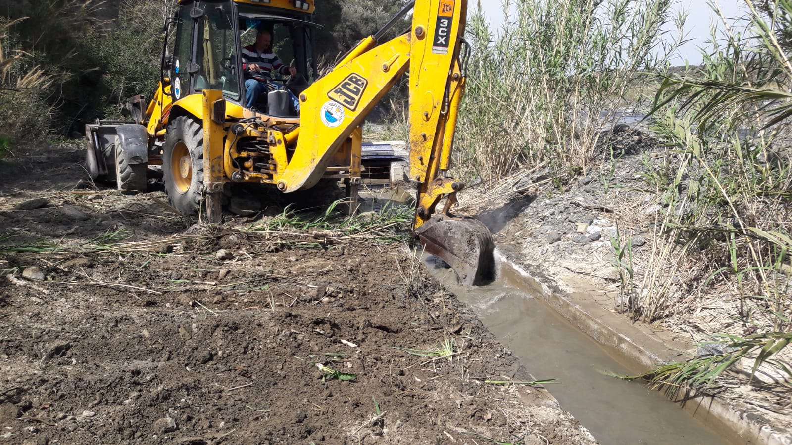
[[[721,15],[725,44],[699,75],[668,78],[657,92],[654,130],[680,165],[659,192],[668,207],[634,310],[654,321],[717,295],[733,313],[710,321],[725,338],[716,341],[756,356],[754,370],[767,361],[790,375],[777,359],[789,359],[792,332],[792,3],[743,1],[748,18],[733,27]],[[672,363],[652,377],[709,384],[733,356]]]

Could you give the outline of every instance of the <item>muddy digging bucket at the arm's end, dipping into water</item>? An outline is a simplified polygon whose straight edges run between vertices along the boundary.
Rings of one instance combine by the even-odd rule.
[[[438,213],[415,234],[426,252],[440,257],[454,269],[460,283],[480,286],[493,280],[493,237],[478,219]]]

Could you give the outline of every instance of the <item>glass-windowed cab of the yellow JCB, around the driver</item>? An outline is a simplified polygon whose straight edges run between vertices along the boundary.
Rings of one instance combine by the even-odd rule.
[[[308,2],[299,6],[299,10],[284,10],[260,2],[184,2],[178,11],[173,55],[167,67],[167,77],[173,81],[172,100],[215,89],[221,90],[230,103],[245,105],[242,48],[254,44],[257,32],[265,29],[272,36],[272,50],[298,74],[285,79],[273,73],[272,82],[284,88],[262,94],[256,111],[296,116],[284,105],[283,93],[288,88],[292,94],[299,94],[309,86],[310,79],[317,77],[311,56],[313,30],[317,27],[310,21],[313,6]],[[303,10],[303,6],[310,8]]]

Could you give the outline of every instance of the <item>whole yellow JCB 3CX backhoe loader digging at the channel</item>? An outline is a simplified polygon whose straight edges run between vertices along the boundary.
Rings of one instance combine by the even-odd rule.
[[[493,273],[493,242],[476,219],[449,213],[464,185],[447,175],[468,48],[466,0],[416,0],[319,77],[312,54],[314,0],[179,0],[166,21],[161,79],[148,101],[132,97],[132,121],[86,126],[94,178],[143,192],[147,165],[162,165],[170,204],[221,218],[223,187],[272,184],[289,193],[343,180],[351,203],[361,184],[364,117],[409,69],[409,177],[417,183],[413,233],[465,284]],[[394,25],[412,25],[383,40]],[[298,73],[247,108],[242,48],[267,29]],[[173,41],[173,44],[169,42]],[[172,49],[170,49],[172,48]],[[310,79],[314,79],[310,82]],[[273,81],[275,82],[275,81]],[[309,85],[310,82],[310,85]],[[299,116],[298,116],[299,114]],[[440,200],[444,207],[436,211]]]

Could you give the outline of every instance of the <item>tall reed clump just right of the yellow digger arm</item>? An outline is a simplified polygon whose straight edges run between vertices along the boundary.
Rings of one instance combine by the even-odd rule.
[[[583,173],[602,127],[653,82],[638,72],[663,70],[679,43],[662,31],[683,21],[671,3],[506,0],[516,13],[497,35],[476,13],[456,140],[461,176],[497,180],[541,162],[562,177]]]

